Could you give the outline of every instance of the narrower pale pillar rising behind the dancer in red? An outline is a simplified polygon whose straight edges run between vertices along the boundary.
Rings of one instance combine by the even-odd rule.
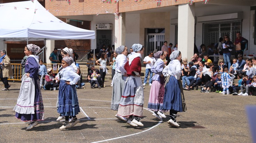
[[[115,47],[125,45],[125,13],[115,16]]]

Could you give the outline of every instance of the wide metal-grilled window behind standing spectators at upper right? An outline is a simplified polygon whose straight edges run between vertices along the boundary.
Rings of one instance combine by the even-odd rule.
[[[203,44],[206,46],[211,43],[218,43],[220,37],[225,35],[230,37],[230,41],[234,42],[236,32],[241,32],[242,20],[222,21],[215,23],[203,24]]]

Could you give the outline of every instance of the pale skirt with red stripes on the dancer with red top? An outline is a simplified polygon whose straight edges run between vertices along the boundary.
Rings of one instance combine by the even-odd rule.
[[[141,78],[138,76],[127,77],[117,115],[122,117],[129,117],[130,115],[142,117],[143,104],[144,93]]]

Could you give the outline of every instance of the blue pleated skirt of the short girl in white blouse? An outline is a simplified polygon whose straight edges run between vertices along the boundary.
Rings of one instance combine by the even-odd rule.
[[[59,87],[59,106],[58,113],[62,116],[75,116],[80,112],[76,86],[66,84],[61,80]]]

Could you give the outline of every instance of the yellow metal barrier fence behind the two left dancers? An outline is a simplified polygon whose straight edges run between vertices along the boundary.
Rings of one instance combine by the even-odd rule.
[[[46,69],[53,68],[53,73],[58,73],[61,63],[44,65],[46,66]],[[11,64],[11,68],[13,69],[13,76],[8,77],[8,80],[13,80],[13,82],[15,80],[20,81],[24,74],[24,68],[21,67],[21,64]]]

